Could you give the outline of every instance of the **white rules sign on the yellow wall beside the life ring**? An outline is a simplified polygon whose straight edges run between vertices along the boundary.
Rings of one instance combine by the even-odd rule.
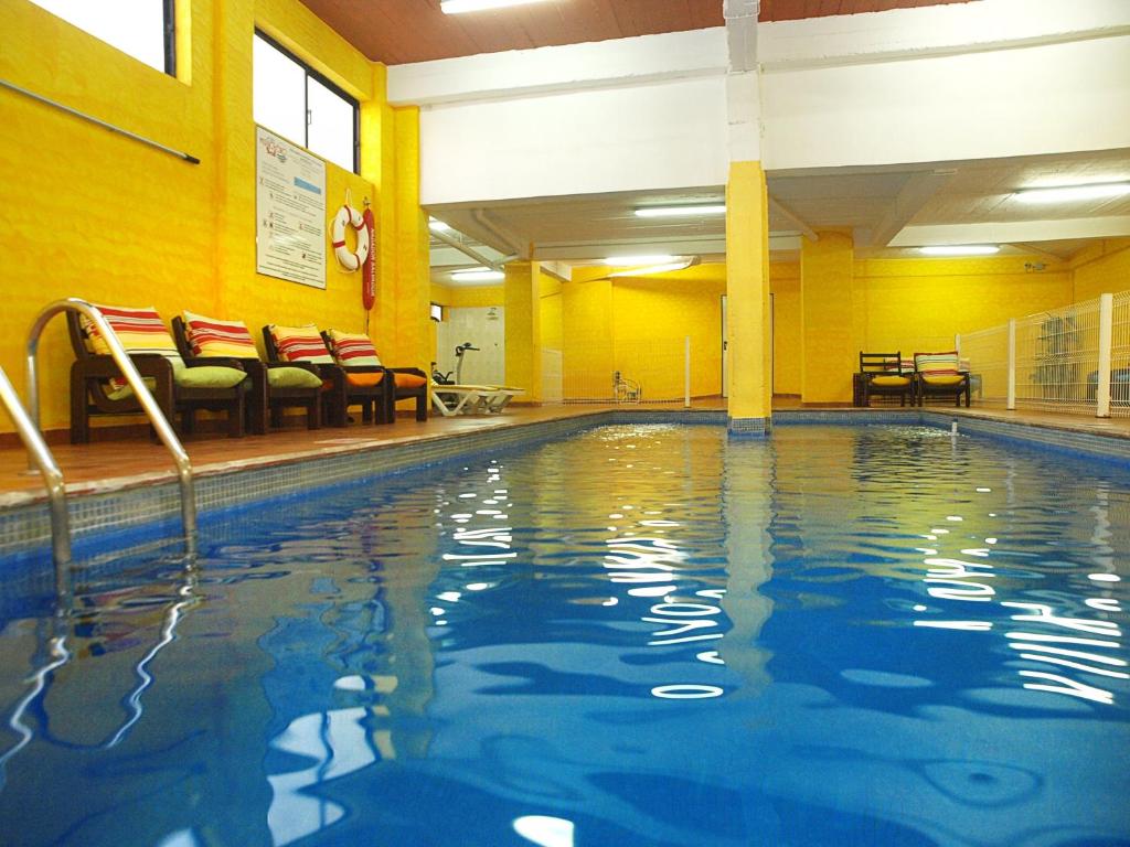
[[[325,288],[325,163],[255,128],[255,270]]]

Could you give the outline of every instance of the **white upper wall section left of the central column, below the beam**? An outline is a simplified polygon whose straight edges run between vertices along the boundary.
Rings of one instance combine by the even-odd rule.
[[[420,112],[420,202],[723,185],[725,78]]]

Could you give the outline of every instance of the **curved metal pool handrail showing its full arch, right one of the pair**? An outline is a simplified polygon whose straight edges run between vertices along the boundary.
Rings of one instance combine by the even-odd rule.
[[[181,518],[184,526],[184,544],[189,552],[194,552],[197,547],[197,497],[192,482],[192,463],[189,461],[189,454],[184,451],[181,439],[176,437],[176,433],[173,431],[173,427],[169,426],[168,419],[162,412],[160,407],[157,405],[157,401],[149,392],[148,386],[141,378],[141,374],[133,366],[133,361],[130,359],[129,353],[125,352],[125,348],[122,347],[122,342],[119,341],[118,334],[111,329],[97,307],[78,297],[55,300],[45,306],[27,333],[27,405],[34,429],[36,431],[40,429],[40,382],[35,366],[40,347],[40,335],[51,318],[61,312],[78,312],[98,328],[98,332],[102,333],[102,338],[110,348],[110,355],[114,358],[118,367],[122,369],[122,376],[125,377],[130,387],[133,388],[133,396],[137,398],[141,409],[149,417],[149,422],[157,430],[157,436],[173,455],[181,486]]]

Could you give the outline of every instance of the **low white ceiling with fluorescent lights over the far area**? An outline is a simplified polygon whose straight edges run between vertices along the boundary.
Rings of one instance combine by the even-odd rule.
[[[1130,236],[1130,195],[1069,204],[1027,204],[1020,187],[1130,180],[1130,148],[913,166],[770,172],[771,252],[794,259],[806,229],[850,228],[857,255],[916,255],[924,244],[1007,243],[1005,252],[1068,259],[1089,238]],[[640,218],[641,206],[721,202],[722,186],[664,192],[541,198],[433,207],[435,218],[488,245],[492,261],[521,255],[591,264],[608,256],[695,254],[724,257],[724,216]],[[433,279],[471,267],[433,241]]]

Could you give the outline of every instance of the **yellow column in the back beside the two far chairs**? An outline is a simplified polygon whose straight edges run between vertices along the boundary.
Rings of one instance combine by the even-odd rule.
[[[800,399],[805,403],[850,403],[859,364],[852,323],[855,251],[847,233],[819,233],[801,241]]]

